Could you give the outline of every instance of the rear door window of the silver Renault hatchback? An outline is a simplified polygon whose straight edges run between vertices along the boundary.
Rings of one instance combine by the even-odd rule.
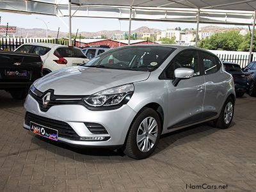
[[[220,62],[211,54],[201,52],[201,59],[205,74],[214,74],[220,69]]]

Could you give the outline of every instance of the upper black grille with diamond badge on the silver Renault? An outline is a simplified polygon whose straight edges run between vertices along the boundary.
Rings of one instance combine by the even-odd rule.
[[[43,97],[48,92],[51,92],[51,100],[47,106],[44,106]],[[29,90],[29,95],[31,95],[36,100],[36,102],[38,102],[40,110],[44,112],[48,111],[48,109],[52,106],[58,106],[61,104],[83,104],[83,96],[54,95],[53,90],[48,90],[45,93],[42,93],[36,89],[34,92]]]

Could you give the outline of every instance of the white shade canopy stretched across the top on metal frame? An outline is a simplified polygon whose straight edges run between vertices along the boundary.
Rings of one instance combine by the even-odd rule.
[[[248,25],[256,1],[248,0],[70,0],[72,17]],[[68,17],[68,0],[3,0],[0,10]]]

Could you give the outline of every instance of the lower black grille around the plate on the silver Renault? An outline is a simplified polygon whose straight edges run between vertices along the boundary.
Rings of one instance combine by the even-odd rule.
[[[30,122],[35,122],[36,124],[43,125],[52,129],[58,130],[58,134],[62,138],[68,138],[71,140],[79,140],[79,135],[65,122],[59,120],[53,120],[51,118],[46,118],[44,116],[35,115],[33,113],[26,113],[25,124],[30,125]]]

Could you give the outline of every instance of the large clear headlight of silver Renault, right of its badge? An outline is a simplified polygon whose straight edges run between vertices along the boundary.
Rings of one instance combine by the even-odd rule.
[[[133,84],[125,84],[85,97],[84,102],[95,108],[122,106],[131,99],[133,92]]]

